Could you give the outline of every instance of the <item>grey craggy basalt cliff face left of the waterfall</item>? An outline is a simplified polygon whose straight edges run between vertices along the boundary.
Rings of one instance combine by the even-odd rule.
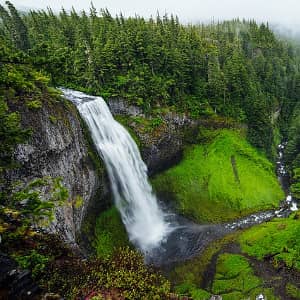
[[[27,183],[44,176],[61,177],[70,197],[56,209],[49,230],[75,243],[89,210],[105,206],[109,198],[102,162],[71,103],[48,99],[41,108],[19,105],[11,109],[21,113],[22,126],[31,128],[32,136],[17,146],[14,156],[19,168],[7,172],[6,180]],[[82,199],[79,204],[78,199]]]

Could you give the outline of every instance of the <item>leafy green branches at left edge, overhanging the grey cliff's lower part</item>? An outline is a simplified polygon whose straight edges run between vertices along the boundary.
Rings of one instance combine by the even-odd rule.
[[[48,189],[48,198],[43,189]],[[48,225],[54,217],[56,205],[68,199],[68,190],[60,178],[42,178],[31,181],[26,186],[14,186],[14,190],[2,194],[0,223],[4,224],[3,240],[19,239],[33,227]]]

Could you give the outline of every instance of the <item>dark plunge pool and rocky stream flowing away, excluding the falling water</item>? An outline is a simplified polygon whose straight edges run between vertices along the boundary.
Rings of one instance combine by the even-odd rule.
[[[286,142],[278,145],[276,174],[285,192],[286,198],[277,210],[251,214],[225,224],[196,224],[178,215],[170,215],[169,221],[176,224],[175,229],[165,238],[159,247],[146,253],[146,262],[160,267],[168,267],[200,254],[211,242],[239,229],[267,222],[275,217],[286,218],[298,210],[297,202],[289,191],[289,177],[284,164],[283,152]]]

